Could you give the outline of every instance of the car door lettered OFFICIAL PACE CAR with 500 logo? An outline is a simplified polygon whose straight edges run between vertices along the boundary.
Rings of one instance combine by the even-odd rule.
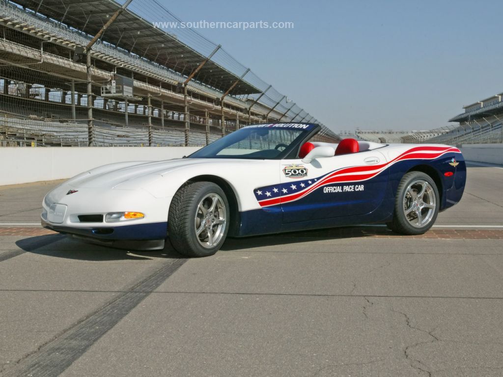
[[[388,182],[377,150],[281,161],[283,223],[363,215],[382,202]]]

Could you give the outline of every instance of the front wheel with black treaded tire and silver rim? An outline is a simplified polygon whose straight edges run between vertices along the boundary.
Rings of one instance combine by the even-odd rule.
[[[182,186],[173,197],[168,216],[171,243],[187,256],[215,254],[229,230],[229,203],[223,190],[213,182]]]

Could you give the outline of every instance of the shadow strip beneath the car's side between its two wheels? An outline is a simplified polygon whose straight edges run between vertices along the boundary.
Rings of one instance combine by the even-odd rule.
[[[392,232],[383,226],[358,226],[358,227],[341,227],[341,228],[328,228],[306,230],[289,233],[269,234],[265,236],[254,237],[241,237],[241,238],[227,238],[223,246],[220,248],[222,251],[232,251],[241,249],[250,249],[255,247],[287,245],[311,241],[324,241],[333,239],[345,238],[364,238],[375,236],[397,236],[398,234]]]

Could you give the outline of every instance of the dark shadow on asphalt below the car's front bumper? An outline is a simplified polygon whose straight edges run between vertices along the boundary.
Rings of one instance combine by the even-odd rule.
[[[32,254],[86,261],[186,258],[175,251],[169,241],[166,241],[166,245],[162,250],[136,251],[94,245],[74,240],[62,234],[48,234],[23,238],[16,241],[16,245],[23,251]]]

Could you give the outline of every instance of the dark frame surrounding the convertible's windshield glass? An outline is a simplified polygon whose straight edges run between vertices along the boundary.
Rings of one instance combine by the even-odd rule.
[[[253,128],[253,127],[256,127],[256,126],[265,126],[265,125],[270,125],[270,124],[271,123],[254,124],[254,125],[243,127],[243,128],[241,128],[241,129],[239,129],[237,131],[234,131],[234,132],[238,132],[240,130],[246,129],[247,127]],[[224,139],[224,138],[226,138],[226,137],[228,137],[228,136],[230,136],[230,135],[233,134],[233,133],[230,133],[230,134],[224,136],[223,138],[215,140],[214,142],[212,142],[212,143],[204,146],[203,148],[198,149],[197,151],[191,153],[190,155],[187,156],[187,158],[215,158],[215,159],[221,158],[221,159],[241,159],[241,160],[282,160],[282,159],[285,159],[285,158],[295,158],[298,155],[300,146],[303,144],[303,142],[305,140],[310,139],[312,136],[314,136],[315,134],[317,134],[321,130],[321,126],[318,125],[318,124],[315,124],[315,123],[295,123],[295,122],[273,123],[273,125],[277,125],[275,127],[276,129],[289,129],[288,127],[282,128],[280,126],[282,124],[283,125],[303,124],[303,125],[309,125],[309,126],[313,126],[313,127],[311,129],[302,130],[299,133],[299,135],[288,145],[288,147],[285,148],[283,151],[281,151],[275,157],[267,157],[267,158],[266,157],[250,157],[250,156],[247,156],[247,155],[194,156],[194,155],[197,155],[198,153],[200,153],[203,149],[208,148],[212,144],[214,144],[216,142],[219,142],[220,140],[222,140],[222,139]],[[222,148],[221,150],[223,150],[223,149],[224,148]]]

